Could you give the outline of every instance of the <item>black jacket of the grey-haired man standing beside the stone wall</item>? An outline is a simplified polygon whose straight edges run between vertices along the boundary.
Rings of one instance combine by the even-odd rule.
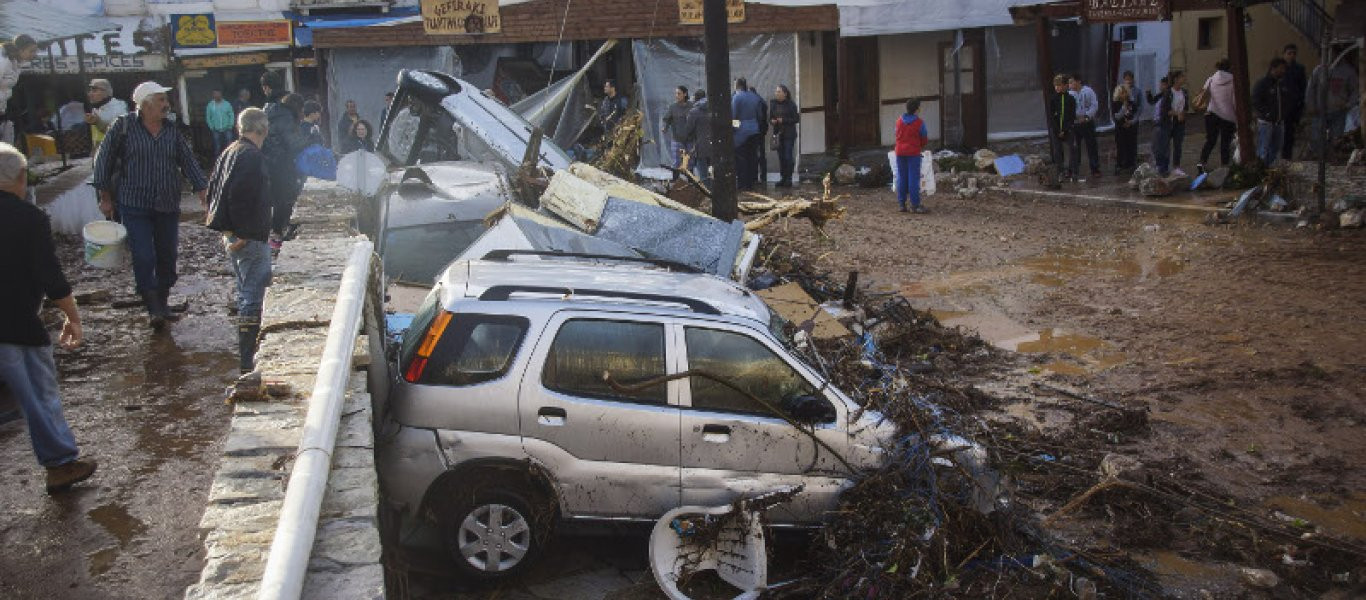
[[[242,239],[265,242],[270,235],[269,174],[264,153],[247,138],[223,150],[209,176],[205,226]]]

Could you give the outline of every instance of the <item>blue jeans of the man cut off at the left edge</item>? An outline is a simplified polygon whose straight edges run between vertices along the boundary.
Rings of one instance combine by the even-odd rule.
[[[19,400],[33,454],[42,466],[76,459],[76,439],[61,414],[52,346],[0,344],[0,379]]]

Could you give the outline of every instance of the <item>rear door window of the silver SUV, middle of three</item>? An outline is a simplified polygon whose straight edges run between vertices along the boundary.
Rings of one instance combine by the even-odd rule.
[[[617,392],[602,381],[602,373],[611,373],[612,380],[623,385],[663,377],[664,325],[589,318],[566,321],[550,344],[541,383],[549,390],[575,396],[668,403],[665,383],[641,391]]]

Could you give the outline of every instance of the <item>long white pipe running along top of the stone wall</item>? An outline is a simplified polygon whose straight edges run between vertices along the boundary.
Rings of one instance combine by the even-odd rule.
[[[370,242],[357,242],[351,246],[346,271],[342,272],[342,287],[337,290],[326,346],[309,398],[299,452],[294,456],[294,472],[290,473],[290,485],[284,491],[280,523],[270,541],[261,592],[257,595],[262,600],[294,600],[303,592],[322,495],[332,470],[332,448],[342,421],[342,403],[351,376],[351,354],[361,331],[372,251]]]

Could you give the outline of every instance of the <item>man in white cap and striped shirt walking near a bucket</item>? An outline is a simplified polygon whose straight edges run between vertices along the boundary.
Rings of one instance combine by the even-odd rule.
[[[169,298],[180,238],[180,175],[201,204],[208,186],[190,142],[167,119],[169,90],[152,81],[138,83],[133,90],[137,112],[109,126],[94,161],[100,212],[111,216],[117,206],[128,228],[133,276],[153,329],[175,320]]]

